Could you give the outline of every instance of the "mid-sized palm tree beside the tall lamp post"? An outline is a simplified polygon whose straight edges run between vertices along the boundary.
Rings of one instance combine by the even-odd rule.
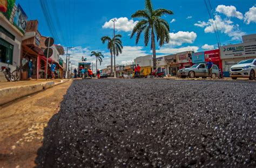
[[[114,72],[116,72],[116,55],[122,54],[123,44],[122,35],[116,34],[113,38],[104,36],[101,38],[102,43],[105,44],[107,41],[107,49],[110,51],[111,56],[111,74],[113,73],[113,55],[114,55]]]

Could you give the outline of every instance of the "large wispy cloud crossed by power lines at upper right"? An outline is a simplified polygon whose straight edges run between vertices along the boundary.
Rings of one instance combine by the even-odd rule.
[[[227,34],[229,37],[232,38],[232,40],[239,40],[241,39],[241,36],[245,35],[245,32],[242,32],[239,29],[239,25],[234,25],[233,22],[230,19],[222,19],[219,15],[215,15],[214,20],[209,19],[208,22],[201,22],[198,21],[198,23],[202,23],[199,27],[205,27],[205,33],[214,33],[214,27],[217,25],[218,31],[221,33]],[[206,24],[205,24],[206,23]]]

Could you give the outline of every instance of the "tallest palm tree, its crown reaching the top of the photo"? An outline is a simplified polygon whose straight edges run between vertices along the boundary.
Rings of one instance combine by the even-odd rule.
[[[157,42],[159,46],[163,46],[165,43],[169,43],[170,36],[169,31],[170,27],[166,20],[162,19],[163,15],[173,15],[171,10],[167,9],[153,9],[151,0],[146,0],[145,9],[138,10],[131,16],[132,18],[143,18],[140,20],[136,26],[133,27],[131,38],[137,33],[136,44],[139,43],[140,34],[144,32],[144,43],[145,46],[149,44],[151,37],[151,50],[153,52],[153,68],[157,67],[156,65],[156,43],[155,35],[157,36]]]

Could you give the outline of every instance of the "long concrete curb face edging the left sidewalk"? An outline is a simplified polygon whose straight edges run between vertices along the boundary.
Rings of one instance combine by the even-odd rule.
[[[52,88],[53,86],[60,85],[62,83],[68,82],[68,80],[61,80],[58,83],[53,81],[42,82],[34,85],[27,86],[17,86],[17,87],[8,87],[0,89],[0,106],[16,99],[19,99],[24,96],[28,96],[33,93],[40,92],[45,89]]]

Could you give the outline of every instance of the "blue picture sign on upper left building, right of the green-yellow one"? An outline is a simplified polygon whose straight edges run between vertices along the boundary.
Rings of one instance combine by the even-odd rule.
[[[14,16],[14,24],[23,32],[26,30],[26,20],[28,19],[28,16],[26,16],[26,13],[22,9],[21,5],[18,4],[17,10],[15,12]]]

